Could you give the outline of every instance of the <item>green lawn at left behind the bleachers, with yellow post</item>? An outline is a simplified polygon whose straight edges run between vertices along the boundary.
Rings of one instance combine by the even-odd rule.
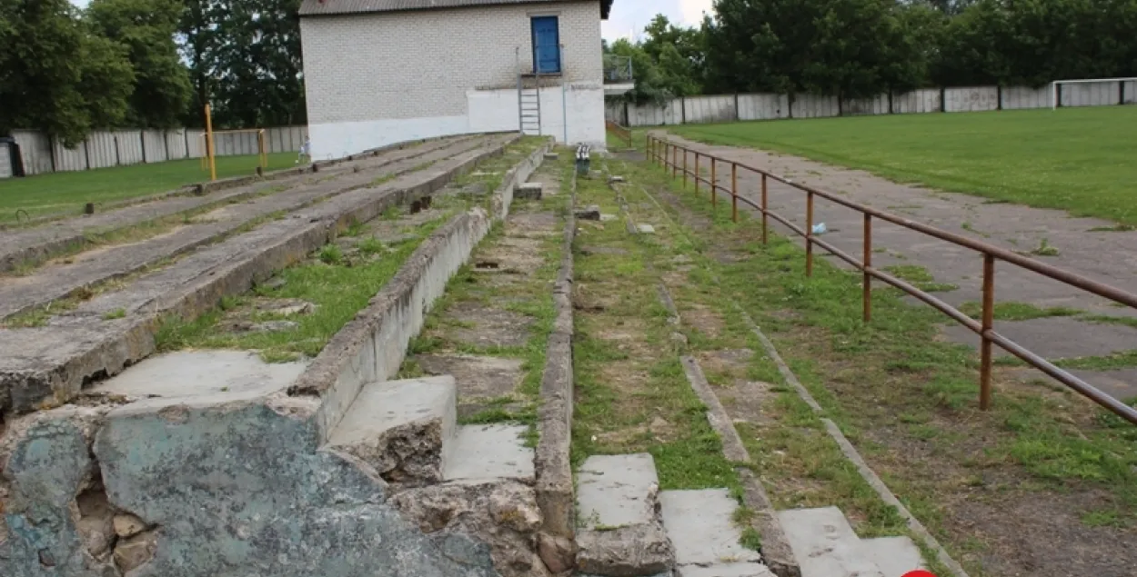
[[[296,152],[268,154],[268,169],[287,168],[294,161]],[[256,167],[256,154],[217,157],[218,178],[252,174]],[[52,212],[78,212],[88,202],[144,196],[208,179],[209,172],[201,168],[201,160],[197,158],[6,178],[0,181],[0,223],[16,221],[17,210],[25,210],[33,218]]]

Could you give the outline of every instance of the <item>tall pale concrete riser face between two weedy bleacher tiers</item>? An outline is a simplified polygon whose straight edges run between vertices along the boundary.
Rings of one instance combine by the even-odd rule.
[[[547,149],[539,148],[506,173],[491,201],[492,207],[500,207],[500,216],[475,208],[431,234],[289,387],[293,396],[321,398],[315,416],[321,442],[327,440],[365,384],[387,381],[399,371],[410,338],[446,291],[447,281],[470,259],[493,223],[504,218],[514,186],[540,166]]]

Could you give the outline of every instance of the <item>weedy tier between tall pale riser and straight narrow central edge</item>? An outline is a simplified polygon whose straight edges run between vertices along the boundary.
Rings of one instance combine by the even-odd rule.
[[[561,265],[564,217],[570,203],[571,170],[571,164],[564,156],[559,161],[546,161],[530,179],[545,182],[558,179],[561,192],[556,195],[546,194],[538,202],[515,201],[511,209],[511,218],[504,225],[495,225],[474,251],[472,264],[463,267],[450,279],[445,295],[428,315],[422,334],[412,341],[409,349],[412,354],[400,370],[404,377],[423,374],[422,367],[415,359],[416,354],[472,354],[523,361],[522,381],[517,390],[513,394],[480,401],[479,404],[484,408],[473,415],[459,417],[463,424],[521,423],[530,426],[531,441],[536,442],[538,396],[545,370],[546,348],[555,318],[553,282]],[[533,244],[537,245],[536,253],[540,256],[540,265],[531,275],[475,270],[478,262],[489,260],[492,254],[500,254],[499,251],[508,250],[511,243],[521,242],[524,235],[531,234],[518,223],[525,221],[533,215],[555,217],[555,224],[549,231],[550,234],[533,239],[536,241]],[[455,318],[457,310],[468,308],[493,316],[512,313],[529,319],[531,321],[528,328],[529,338],[524,344],[507,346],[471,343],[471,331],[478,332],[479,321],[483,319],[468,321]],[[459,404],[464,401],[470,400],[463,399],[459,392]]]

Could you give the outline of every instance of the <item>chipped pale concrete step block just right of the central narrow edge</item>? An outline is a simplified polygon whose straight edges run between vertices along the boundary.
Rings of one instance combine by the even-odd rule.
[[[675,561],[659,513],[650,454],[592,455],[578,471],[576,567],[596,576],[670,574]]]

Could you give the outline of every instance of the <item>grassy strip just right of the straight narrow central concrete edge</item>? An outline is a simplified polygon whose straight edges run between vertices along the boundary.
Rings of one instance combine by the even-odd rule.
[[[620,214],[600,178],[579,181],[578,204]],[[620,219],[581,220],[578,228],[574,466],[590,454],[647,452],[662,490],[737,490],[735,470],[673,349],[656,290],[661,271],[653,264],[669,250],[669,232],[632,235]]]

